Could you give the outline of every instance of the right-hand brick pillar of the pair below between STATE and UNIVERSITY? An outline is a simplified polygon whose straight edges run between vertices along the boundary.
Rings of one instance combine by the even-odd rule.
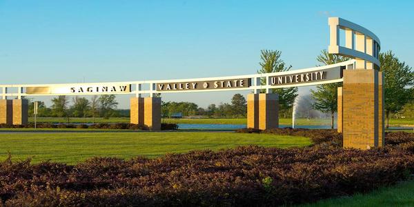
[[[259,94],[259,129],[279,128],[279,95]]]

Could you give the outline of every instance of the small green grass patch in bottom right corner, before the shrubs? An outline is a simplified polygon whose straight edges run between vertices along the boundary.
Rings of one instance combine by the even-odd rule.
[[[414,180],[380,188],[367,194],[325,199],[302,207],[312,206],[414,206]]]

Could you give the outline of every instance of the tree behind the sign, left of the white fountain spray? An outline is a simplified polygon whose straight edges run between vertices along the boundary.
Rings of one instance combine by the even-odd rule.
[[[262,69],[257,71],[258,73],[268,73],[268,72],[283,72],[288,71],[292,66],[286,66],[286,63],[280,56],[282,52],[278,50],[261,50],[262,54],[260,58],[262,59],[259,62]],[[266,84],[266,79],[262,79],[262,84]],[[273,88],[273,92],[279,94],[279,111],[284,113],[286,117],[286,111],[289,108],[292,108],[293,102],[295,102],[295,98],[297,97],[297,87],[290,87],[290,88]],[[262,92],[266,92],[265,90]]]

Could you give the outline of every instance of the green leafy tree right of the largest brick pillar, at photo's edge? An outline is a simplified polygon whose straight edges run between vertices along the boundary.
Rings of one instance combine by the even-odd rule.
[[[400,61],[390,50],[380,53],[381,71],[384,73],[386,128],[390,113],[397,113],[412,100],[414,72],[405,62]]]

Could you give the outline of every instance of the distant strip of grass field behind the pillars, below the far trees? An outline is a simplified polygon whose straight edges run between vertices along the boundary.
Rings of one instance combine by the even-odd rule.
[[[29,118],[33,122],[32,117]],[[68,120],[63,118],[41,117],[38,122],[66,123]],[[95,118],[95,123],[129,123],[128,117],[113,117],[110,119]],[[162,122],[175,124],[246,124],[245,118],[240,119],[161,119]],[[335,120],[336,121],[336,120]],[[70,118],[70,123],[92,123],[92,118]],[[280,118],[279,124],[291,125],[292,119]],[[330,125],[330,119],[297,119],[297,125]],[[391,126],[414,126],[414,119],[391,119]]]

